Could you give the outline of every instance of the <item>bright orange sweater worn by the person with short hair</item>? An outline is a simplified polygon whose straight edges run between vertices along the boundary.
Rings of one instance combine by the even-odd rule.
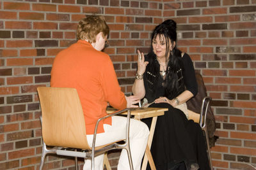
[[[93,134],[97,119],[107,114],[108,103],[118,110],[127,105],[111,59],[106,53],[95,50],[87,41],[79,40],[58,53],[52,64],[51,87],[77,89],[86,134]],[[104,132],[103,124],[111,125],[111,118],[100,121],[97,133]]]

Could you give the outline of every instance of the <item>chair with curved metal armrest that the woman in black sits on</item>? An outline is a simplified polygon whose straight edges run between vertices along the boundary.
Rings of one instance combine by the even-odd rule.
[[[207,117],[207,112],[208,112],[208,108],[209,108],[209,104],[210,104],[211,100],[212,100],[212,98],[209,96],[204,97],[204,99],[202,101],[200,113],[195,113],[191,110],[188,110],[188,117],[189,117],[189,119],[194,120],[194,122],[197,122],[198,124],[200,124],[200,127],[204,131],[205,141],[207,144],[207,155],[208,155],[208,160],[209,160],[209,166],[212,169],[209,136],[208,136],[207,126],[206,126],[206,117]]]

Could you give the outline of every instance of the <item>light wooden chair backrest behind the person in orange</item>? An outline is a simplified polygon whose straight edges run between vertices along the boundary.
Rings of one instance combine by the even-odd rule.
[[[76,89],[38,87],[42,110],[42,137],[46,145],[90,148],[83,109]]]

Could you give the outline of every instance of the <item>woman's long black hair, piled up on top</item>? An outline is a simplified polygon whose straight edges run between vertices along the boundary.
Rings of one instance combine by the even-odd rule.
[[[184,91],[184,80],[183,71],[184,65],[182,63],[181,52],[177,49],[177,32],[176,32],[176,22],[173,20],[165,20],[162,24],[156,26],[152,32],[151,41],[159,36],[160,41],[166,42],[166,77],[163,80],[164,96],[169,99],[177,97],[181,92]],[[172,44],[172,49],[170,49],[170,43]],[[148,66],[147,66],[147,83],[148,87],[152,90],[153,94],[156,92],[157,81],[161,77],[159,70],[160,65],[157,61],[156,54],[153,52],[153,46],[151,45],[150,52],[147,55]],[[153,75],[153,76],[152,76]]]

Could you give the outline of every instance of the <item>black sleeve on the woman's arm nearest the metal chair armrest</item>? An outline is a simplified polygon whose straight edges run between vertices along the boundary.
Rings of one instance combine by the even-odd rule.
[[[184,80],[186,90],[189,90],[189,92],[195,96],[198,92],[198,89],[193,62],[187,53],[184,53],[182,61],[184,64]]]

